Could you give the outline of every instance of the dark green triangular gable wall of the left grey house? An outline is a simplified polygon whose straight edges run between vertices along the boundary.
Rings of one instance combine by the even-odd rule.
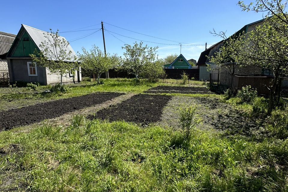
[[[29,38],[29,41],[23,41],[24,38]],[[32,39],[29,37],[27,32],[21,37],[15,51],[12,54],[12,57],[29,57],[29,54],[34,53],[34,50],[38,49]],[[39,49],[38,49],[39,50]]]

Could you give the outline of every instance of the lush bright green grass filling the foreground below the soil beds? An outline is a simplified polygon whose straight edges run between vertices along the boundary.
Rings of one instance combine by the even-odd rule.
[[[9,169],[22,173],[17,182],[31,191],[288,190],[288,140],[253,143],[196,130],[187,143],[170,128],[81,116],[67,127],[44,123],[0,138],[7,152],[0,156],[0,190]],[[18,150],[9,150],[12,143]]]

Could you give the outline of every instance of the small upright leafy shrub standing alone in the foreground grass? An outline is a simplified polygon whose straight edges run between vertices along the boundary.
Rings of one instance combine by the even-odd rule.
[[[185,140],[190,139],[191,130],[196,129],[196,125],[201,122],[199,115],[196,114],[196,105],[184,105],[179,107],[179,122],[183,131]]]

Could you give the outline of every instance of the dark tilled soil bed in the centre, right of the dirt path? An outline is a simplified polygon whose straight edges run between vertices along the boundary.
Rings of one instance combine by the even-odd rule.
[[[168,95],[134,95],[120,104],[98,111],[89,119],[107,119],[109,121],[125,120],[141,125],[158,122],[162,110],[172,96]]]

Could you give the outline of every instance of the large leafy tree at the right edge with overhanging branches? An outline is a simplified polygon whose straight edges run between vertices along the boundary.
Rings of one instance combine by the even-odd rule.
[[[246,34],[243,44],[247,46],[227,46],[238,55],[238,61],[242,65],[262,67],[274,74],[272,85],[266,85],[270,89],[268,115],[278,104],[280,94],[280,76],[288,74],[288,16],[285,12],[286,4],[281,0],[256,0],[256,4],[245,5],[243,1],[238,4],[245,11],[267,12],[264,22],[254,27],[254,30]],[[225,32],[216,34],[224,39]]]

